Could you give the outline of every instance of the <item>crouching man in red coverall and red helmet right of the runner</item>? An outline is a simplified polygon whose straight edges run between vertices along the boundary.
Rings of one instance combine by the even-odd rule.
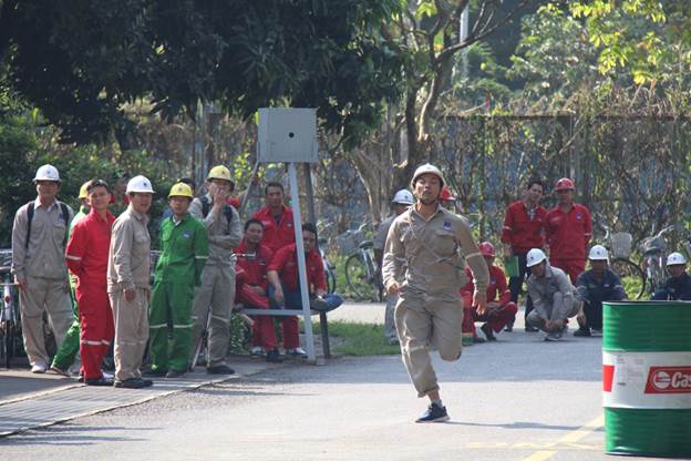
[[[473,279],[473,273],[470,267],[465,268],[468,281],[463,288],[461,288],[461,296],[463,296],[463,330],[475,330],[475,321],[484,321],[485,324],[479,329],[485,334],[487,341],[496,341],[495,332],[502,331],[502,328],[515,318],[518,311],[516,303],[510,300],[510,291],[506,285],[506,276],[501,267],[494,265],[495,250],[494,245],[489,242],[483,242],[477,246],[481,255],[487,263],[489,269],[489,285],[487,285],[487,308],[485,314],[477,314],[477,306],[473,306],[473,293],[475,291],[475,285]],[[466,307],[467,306],[467,307]]]

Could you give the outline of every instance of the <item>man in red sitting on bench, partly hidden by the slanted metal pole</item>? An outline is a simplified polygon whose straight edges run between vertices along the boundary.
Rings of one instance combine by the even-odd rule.
[[[327,294],[323,262],[319,252],[317,252],[317,228],[311,223],[302,225],[302,244],[305,245],[310,307],[320,311],[333,310],[343,304],[343,298],[339,295]],[[302,308],[296,244],[286,245],[276,252],[269,264],[267,278],[270,284],[269,298],[276,305],[285,306],[287,309]],[[288,319],[292,322],[292,327],[289,328],[289,321],[283,324],[283,336],[288,337],[288,334],[290,334],[290,344],[285,344],[287,347],[286,354],[306,357],[307,354],[299,347],[298,318],[287,317],[286,320]]]

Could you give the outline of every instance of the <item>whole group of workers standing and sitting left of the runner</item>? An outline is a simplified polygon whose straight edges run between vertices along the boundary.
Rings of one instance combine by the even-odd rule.
[[[299,281],[292,212],[283,204],[280,183],[265,189],[267,207],[248,221],[245,238],[227,167],[210,170],[208,192],[200,197],[184,182],[173,185],[167,196],[171,209],[161,224],[153,287],[147,213],[155,192],[146,177],[127,182],[126,209],[117,218],[109,211],[113,194],[102,180],[82,186],[76,216],[56,198],[61,178],[54,166],[41,166],[34,184],[38,197],[19,208],[12,229],[12,272],[20,287],[32,372],[50,368],[70,376],[79,352],[80,380],[85,385],[144,388],[153,385],[147,376],[184,376],[194,346],[208,329],[206,370],[228,375],[234,372],[226,354],[236,299],[247,307],[301,308],[296,306],[301,300],[295,293]],[[310,304],[330,310],[342,299],[326,294],[317,230],[310,224],[303,230]],[[274,258],[274,252],[281,257]],[[236,277],[238,257],[238,270],[250,278]],[[248,259],[251,263],[245,264]],[[44,314],[58,345],[50,366]],[[276,340],[269,338],[271,317],[259,316],[255,325],[252,341],[267,346],[267,360],[279,361]],[[297,317],[283,317],[283,327],[286,352],[306,356],[299,347]],[[147,345],[151,369],[142,373]],[[111,346],[114,377],[102,370]]]

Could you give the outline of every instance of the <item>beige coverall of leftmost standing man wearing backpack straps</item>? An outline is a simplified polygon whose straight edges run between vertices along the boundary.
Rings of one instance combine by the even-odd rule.
[[[43,335],[43,313],[55,335],[58,348],[72,325],[72,300],[65,264],[65,235],[68,227],[60,202],[45,208],[37,197],[31,221],[31,236],[27,246],[29,204],[14,215],[12,227],[12,273],[19,280],[27,280],[27,289],[20,293],[21,324],[24,350],[29,362],[49,365]],[[68,206],[66,222],[74,213]]]

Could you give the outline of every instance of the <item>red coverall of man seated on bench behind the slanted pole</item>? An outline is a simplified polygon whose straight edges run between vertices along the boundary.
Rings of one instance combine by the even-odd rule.
[[[323,272],[323,263],[321,256],[312,249],[305,258],[307,265],[307,283],[308,291],[314,293],[317,289],[327,290],[327,279]],[[285,290],[298,291],[300,289],[300,277],[298,276],[298,257],[296,244],[282,247],[274,255],[268,270],[276,270],[278,278],[283,285],[283,295],[288,299],[289,295]],[[289,341],[289,342],[287,342]],[[298,337],[298,317],[285,317],[283,320],[283,347],[293,349],[300,346]]]

